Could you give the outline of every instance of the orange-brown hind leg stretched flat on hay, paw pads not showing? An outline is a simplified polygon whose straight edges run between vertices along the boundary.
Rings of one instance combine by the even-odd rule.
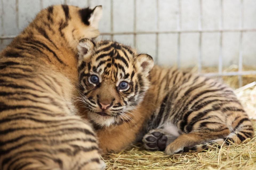
[[[221,125],[216,129],[202,127],[180,135],[177,139],[171,142],[165,149],[167,155],[187,152],[192,147],[203,144],[214,139],[224,138],[230,134],[230,130],[226,125]]]

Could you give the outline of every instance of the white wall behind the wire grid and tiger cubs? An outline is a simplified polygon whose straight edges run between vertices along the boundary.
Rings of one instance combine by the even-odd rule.
[[[250,29],[242,34],[243,64],[256,65],[255,0],[17,0],[17,2],[16,4],[16,0],[0,1],[1,37],[17,35],[33,20],[39,10],[52,4],[67,3],[79,7],[103,5],[103,19],[99,26],[103,35],[99,39],[113,38],[136,46],[139,52],[150,54],[159,64],[176,65],[177,61],[180,61],[182,67],[195,66],[201,54],[202,66],[217,66],[220,52],[224,67],[238,64],[240,32],[237,30],[242,28]],[[243,2],[242,6],[241,2]],[[240,23],[241,9],[244,11],[242,23]],[[200,27],[202,30],[224,29],[231,32],[223,32],[222,36],[218,31],[203,32],[200,35],[197,32]],[[177,33],[179,29],[187,33],[179,34]],[[111,32],[118,35],[111,36],[109,34]],[[10,41],[11,39],[0,39],[0,49]]]

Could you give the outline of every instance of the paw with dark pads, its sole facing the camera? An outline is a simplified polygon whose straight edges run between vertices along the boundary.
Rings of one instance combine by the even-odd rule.
[[[148,150],[164,151],[166,148],[167,137],[160,129],[154,129],[149,131],[149,133],[143,137],[142,142],[144,147]]]

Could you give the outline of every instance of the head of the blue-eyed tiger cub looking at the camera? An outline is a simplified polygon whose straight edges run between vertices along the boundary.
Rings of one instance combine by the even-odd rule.
[[[149,88],[153,58],[113,41],[78,45],[79,86],[88,117],[110,126],[130,119],[127,113],[143,99]]]

